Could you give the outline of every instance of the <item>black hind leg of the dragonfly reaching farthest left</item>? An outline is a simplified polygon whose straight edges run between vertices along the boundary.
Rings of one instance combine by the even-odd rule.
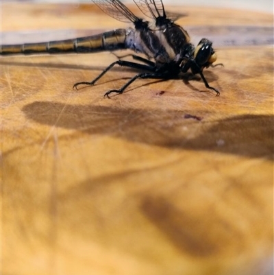
[[[129,67],[129,68],[134,68],[134,69],[140,69],[143,71],[154,71],[154,68],[149,66],[149,65],[144,65],[144,64],[138,64],[136,62],[129,62],[129,61],[125,61],[125,60],[117,60],[115,62],[113,62],[112,64],[110,64],[108,67],[106,67],[94,80],[92,80],[91,82],[77,82],[73,85],[73,88],[76,88],[77,90],[77,86],[79,85],[90,85],[93,86],[107,71],[109,71],[110,69],[112,69],[112,67],[114,67],[114,65],[119,65],[121,67]]]

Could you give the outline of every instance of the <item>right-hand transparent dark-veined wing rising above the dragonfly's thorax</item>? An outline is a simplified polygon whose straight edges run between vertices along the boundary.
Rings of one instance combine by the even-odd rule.
[[[134,0],[139,10],[151,19],[166,18],[162,0]]]

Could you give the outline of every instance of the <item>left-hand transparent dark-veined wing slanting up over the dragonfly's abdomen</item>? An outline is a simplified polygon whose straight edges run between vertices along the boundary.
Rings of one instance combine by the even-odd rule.
[[[119,0],[91,0],[97,5],[103,12],[113,17],[116,20],[122,22],[137,22],[137,16],[135,16],[121,1]]]

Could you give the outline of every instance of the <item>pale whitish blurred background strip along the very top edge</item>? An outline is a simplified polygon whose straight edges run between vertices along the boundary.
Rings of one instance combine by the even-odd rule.
[[[11,0],[1,0],[2,3]],[[16,2],[16,1],[14,1]],[[17,2],[40,2],[40,3],[90,3],[90,0],[17,0]],[[124,0],[123,2],[132,2],[132,0]],[[273,0],[164,0],[165,5],[205,5],[214,8],[237,8],[242,10],[257,10],[258,12],[273,13]]]

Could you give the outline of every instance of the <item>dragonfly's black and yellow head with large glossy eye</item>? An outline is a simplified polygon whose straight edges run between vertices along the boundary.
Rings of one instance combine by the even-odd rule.
[[[210,67],[216,61],[217,55],[212,48],[212,42],[206,38],[201,39],[194,51],[194,59],[201,71]]]

